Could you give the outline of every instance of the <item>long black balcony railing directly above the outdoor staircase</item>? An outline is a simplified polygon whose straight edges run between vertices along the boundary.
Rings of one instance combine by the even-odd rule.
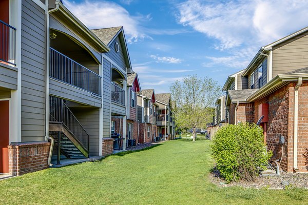
[[[53,48],[50,48],[49,76],[91,93],[102,95],[101,76]]]

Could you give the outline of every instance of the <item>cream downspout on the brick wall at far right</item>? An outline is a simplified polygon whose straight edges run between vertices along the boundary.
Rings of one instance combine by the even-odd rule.
[[[293,169],[298,171],[297,167],[297,137],[298,137],[298,89],[302,85],[303,80],[298,78],[297,85],[294,88],[294,136],[293,136]]]

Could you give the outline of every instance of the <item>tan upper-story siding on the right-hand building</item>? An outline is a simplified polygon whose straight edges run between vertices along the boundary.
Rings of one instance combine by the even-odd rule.
[[[308,32],[273,47],[272,77],[308,66]]]

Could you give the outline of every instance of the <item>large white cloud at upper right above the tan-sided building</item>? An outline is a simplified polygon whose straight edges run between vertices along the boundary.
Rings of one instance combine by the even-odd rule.
[[[178,23],[218,40],[217,49],[272,43],[307,26],[308,1],[188,0],[177,5]]]

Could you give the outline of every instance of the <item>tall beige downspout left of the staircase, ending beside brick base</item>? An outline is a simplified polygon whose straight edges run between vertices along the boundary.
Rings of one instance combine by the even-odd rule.
[[[51,167],[52,166],[52,163],[51,163],[51,157],[52,157],[52,150],[53,150],[53,145],[54,145],[54,139],[52,137],[49,136],[49,14],[50,13],[53,13],[57,10],[59,10],[59,4],[58,2],[56,1],[55,2],[55,8],[54,9],[51,9],[49,11],[47,11],[46,13],[46,96],[45,96],[45,105],[46,105],[46,108],[45,108],[45,137],[47,139],[49,139],[51,141],[51,144],[50,144],[50,149],[49,149],[49,154],[48,154],[48,166]]]

